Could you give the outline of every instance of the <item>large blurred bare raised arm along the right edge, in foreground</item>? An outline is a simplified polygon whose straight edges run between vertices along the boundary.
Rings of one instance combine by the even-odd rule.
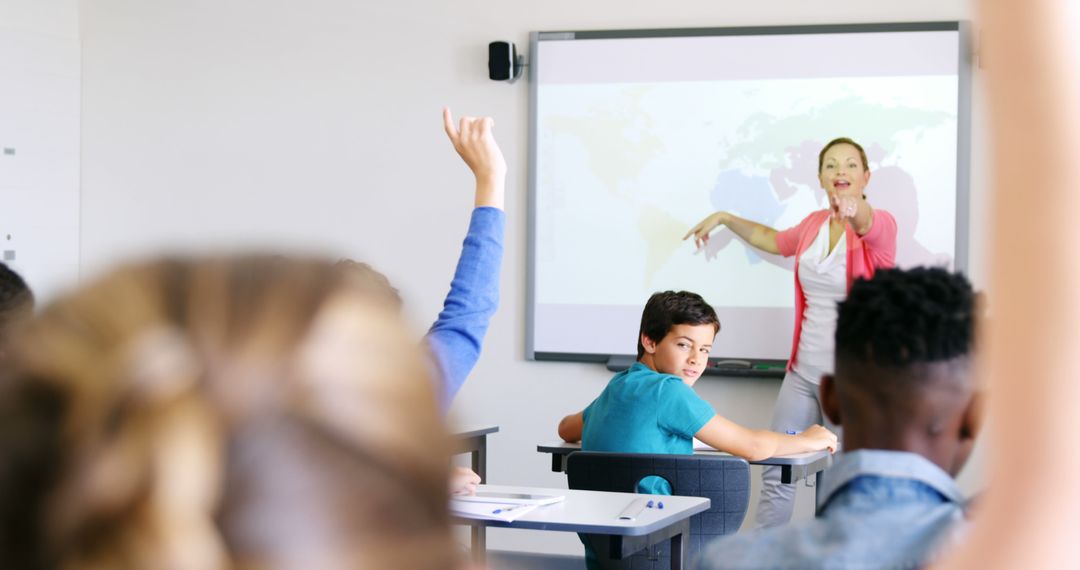
[[[1080,487],[1065,477],[1080,470],[1080,3],[978,4],[994,135],[994,214],[980,235],[991,253],[991,314],[978,349],[994,484],[967,543],[936,566],[1076,568]]]

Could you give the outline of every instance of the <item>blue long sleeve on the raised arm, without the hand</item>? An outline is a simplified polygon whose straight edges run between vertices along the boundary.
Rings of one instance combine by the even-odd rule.
[[[428,345],[442,380],[444,409],[476,365],[488,323],[499,308],[505,225],[507,215],[499,208],[473,211],[450,293],[428,331]]]

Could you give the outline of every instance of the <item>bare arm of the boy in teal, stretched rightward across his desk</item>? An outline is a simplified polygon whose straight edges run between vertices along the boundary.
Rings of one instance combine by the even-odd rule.
[[[720,451],[748,461],[819,449],[836,451],[836,434],[821,425],[811,425],[800,434],[786,435],[743,428],[721,416],[713,416],[694,437]]]

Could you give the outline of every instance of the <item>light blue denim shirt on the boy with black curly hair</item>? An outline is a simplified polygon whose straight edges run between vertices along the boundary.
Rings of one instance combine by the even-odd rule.
[[[964,520],[953,477],[905,451],[843,453],[819,497],[818,518],[713,541],[700,568],[919,568]]]

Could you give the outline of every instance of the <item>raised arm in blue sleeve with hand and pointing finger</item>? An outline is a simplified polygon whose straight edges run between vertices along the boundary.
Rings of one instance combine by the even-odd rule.
[[[488,323],[499,307],[507,162],[491,133],[491,119],[465,117],[458,127],[450,110],[443,109],[443,124],[454,149],[476,180],[475,209],[450,291],[427,336],[443,383],[443,405],[447,407],[480,358]]]

